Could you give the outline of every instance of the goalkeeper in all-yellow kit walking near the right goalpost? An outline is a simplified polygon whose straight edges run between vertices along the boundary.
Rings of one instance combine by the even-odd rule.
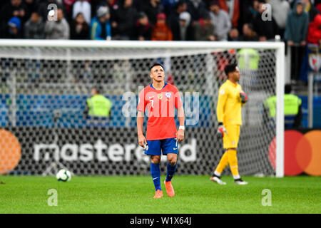
[[[238,139],[240,138],[240,125],[242,125],[241,108],[248,101],[248,96],[243,92],[238,81],[240,80],[240,71],[236,64],[230,64],[224,69],[228,80],[220,86],[218,90],[218,105],[216,114],[218,116],[218,134],[223,137],[223,146],[225,153],[220,159],[210,180],[219,185],[226,185],[220,180],[220,174],[227,165],[233,174],[235,184],[247,185],[238,173],[238,158],[236,152],[238,148]]]

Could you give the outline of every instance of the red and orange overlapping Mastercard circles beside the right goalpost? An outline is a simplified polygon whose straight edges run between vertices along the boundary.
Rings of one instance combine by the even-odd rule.
[[[276,139],[270,142],[269,160],[275,168]],[[297,130],[284,133],[284,174],[287,176],[321,175],[321,130],[311,130],[305,134]]]

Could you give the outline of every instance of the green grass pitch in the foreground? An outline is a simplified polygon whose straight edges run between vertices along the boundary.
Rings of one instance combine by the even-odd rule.
[[[321,177],[243,177],[248,185],[210,182],[209,176],[175,176],[175,197],[165,193],[153,199],[149,176],[55,177],[0,176],[0,214],[3,213],[321,213]],[[57,190],[58,205],[50,207],[50,189]],[[263,206],[262,191],[271,191],[271,206]]]

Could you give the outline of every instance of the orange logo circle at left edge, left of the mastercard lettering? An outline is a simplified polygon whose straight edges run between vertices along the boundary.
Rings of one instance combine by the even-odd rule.
[[[20,159],[19,140],[8,130],[0,129],[0,175],[14,170]]]

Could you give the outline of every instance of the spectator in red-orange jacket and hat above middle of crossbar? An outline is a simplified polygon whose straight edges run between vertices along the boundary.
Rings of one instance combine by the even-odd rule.
[[[173,41],[173,33],[166,25],[166,15],[160,13],[157,15],[157,22],[153,26],[152,41]]]

